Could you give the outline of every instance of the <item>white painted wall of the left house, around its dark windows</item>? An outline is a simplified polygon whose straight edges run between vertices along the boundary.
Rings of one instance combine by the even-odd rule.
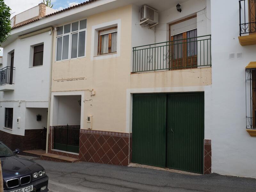
[[[14,50],[14,91],[0,93],[0,130],[12,134],[24,135],[25,129],[33,129],[34,127],[33,124],[27,124],[25,126],[25,118],[32,115],[26,113],[26,106],[30,108],[42,108],[48,106],[51,40],[51,35],[49,35],[48,32],[44,32],[24,39],[16,39],[14,42],[4,47],[3,68],[10,66],[9,52]],[[30,54],[30,47],[31,45],[40,43],[44,43],[43,66],[29,67],[29,60],[30,57],[32,57]],[[20,107],[19,101],[21,101]],[[13,122],[15,123],[13,123],[12,131],[3,128],[4,108],[8,106],[13,108]],[[18,117],[21,118],[20,128],[17,128],[16,124],[16,119]]]

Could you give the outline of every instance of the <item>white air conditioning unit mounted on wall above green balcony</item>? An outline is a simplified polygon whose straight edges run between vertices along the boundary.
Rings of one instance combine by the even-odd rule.
[[[140,8],[140,22],[143,21],[151,25],[158,23],[158,12],[147,5],[142,6]]]

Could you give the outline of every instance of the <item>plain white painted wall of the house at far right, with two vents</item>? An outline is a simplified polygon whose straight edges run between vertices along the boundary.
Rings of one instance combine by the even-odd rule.
[[[256,178],[256,138],[245,129],[244,69],[256,61],[256,45],[239,44],[238,0],[213,0],[211,8],[212,172]],[[244,58],[228,60],[229,53],[237,52]]]

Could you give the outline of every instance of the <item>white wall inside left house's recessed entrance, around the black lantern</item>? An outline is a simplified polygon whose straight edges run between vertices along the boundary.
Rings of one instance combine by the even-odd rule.
[[[48,108],[26,108],[25,129],[43,129],[47,127]],[[36,121],[36,115],[42,116],[41,121]]]

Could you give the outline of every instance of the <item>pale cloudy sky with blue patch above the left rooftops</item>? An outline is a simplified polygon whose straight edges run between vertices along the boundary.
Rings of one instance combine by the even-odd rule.
[[[79,4],[86,0],[52,0],[53,9],[61,10],[69,7],[71,4]],[[4,0],[5,4],[8,5],[12,10],[12,16],[17,15],[23,11],[26,11],[39,3],[42,3],[43,0]]]

